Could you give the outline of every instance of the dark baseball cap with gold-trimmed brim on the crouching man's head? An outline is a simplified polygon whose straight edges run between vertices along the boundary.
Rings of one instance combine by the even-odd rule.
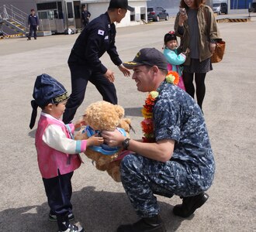
[[[127,69],[133,69],[140,65],[157,66],[161,70],[167,70],[168,63],[164,54],[155,48],[140,49],[132,61],[123,63]]]

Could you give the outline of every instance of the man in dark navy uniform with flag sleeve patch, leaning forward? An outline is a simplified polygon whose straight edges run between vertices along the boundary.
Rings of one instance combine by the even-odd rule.
[[[125,77],[130,76],[130,70],[123,66],[116,51],[114,24],[121,22],[127,9],[134,10],[128,5],[127,0],[111,0],[108,11],[89,22],[74,43],[67,61],[71,70],[72,93],[63,115],[64,123],[74,118],[75,112],[84,101],[88,81],[95,85],[104,101],[117,104],[116,87],[113,84],[114,73],[105,67],[99,58],[104,53],[109,53],[112,63],[119,67]]]

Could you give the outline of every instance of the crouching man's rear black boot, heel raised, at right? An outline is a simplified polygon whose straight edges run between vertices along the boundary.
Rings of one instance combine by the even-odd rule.
[[[200,193],[196,196],[184,197],[182,200],[182,205],[174,206],[172,212],[178,217],[189,217],[196,209],[201,207],[209,196],[206,193]]]

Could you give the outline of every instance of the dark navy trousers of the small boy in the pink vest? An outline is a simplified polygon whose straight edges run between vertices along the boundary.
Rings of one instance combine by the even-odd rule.
[[[72,213],[72,186],[71,178],[74,172],[61,175],[54,178],[43,178],[43,185],[47,193],[47,200],[50,210],[57,216],[59,230],[67,230],[69,220],[68,214]]]

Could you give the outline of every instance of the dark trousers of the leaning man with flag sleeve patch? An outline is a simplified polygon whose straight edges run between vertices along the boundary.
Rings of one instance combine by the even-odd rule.
[[[63,114],[65,124],[72,121],[75,112],[84,101],[88,81],[95,85],[104,101],[117,104],[116,87],[102,73],[92,72],[88,67],[76,63],[68,63],[68,66],[71,70],[72,93]]]

